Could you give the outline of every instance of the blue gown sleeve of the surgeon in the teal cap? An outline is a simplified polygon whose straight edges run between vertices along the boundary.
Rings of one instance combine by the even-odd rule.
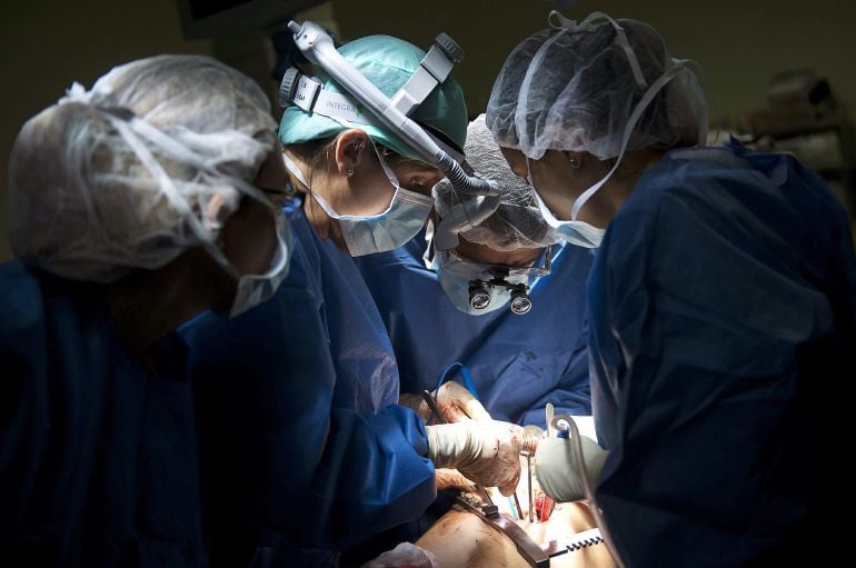
[[[412,411],[334,406],[324,329],[310,292],[283,285],[238,318],[186,330],[217,522],[272,529],[286,547],[348,548],[436,495]]]

